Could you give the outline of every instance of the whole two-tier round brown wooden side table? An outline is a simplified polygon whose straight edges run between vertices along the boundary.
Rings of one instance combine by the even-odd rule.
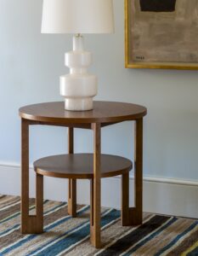
[[[43,176],[69,179],[68,212],[76,217],[76,179],[91,181],[90,234],[94,247],[100,242],[100,183],[101,177],[122,175],[122,225],[142,224],[143,184],[143,117],[146,108],[122,102],[94,102],[92,111],[65,111],[64,102],[41,103],[20,108],[21,163],[21,232],[43,231]],[[129,207],[129,171],[132,161],[101,154],[101,128],[123,121],[135,121],[134,184],[135,207]],[[29,125],[57,125],[68,127],[68,154],[54,155],[34,162],[37,173],[35,216],[29,214]],[[93,130],[93,154],[74,154],[74,128]]]

